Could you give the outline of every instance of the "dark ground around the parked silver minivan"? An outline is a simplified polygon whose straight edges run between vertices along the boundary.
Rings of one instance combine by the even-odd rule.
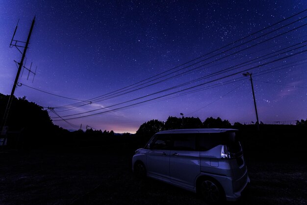
[[[117,139],[60,151],[2,150],[0,205],[204,205],[194,193],[134,178],[131,144]],[[307,204],[306,153],[257,152],[245,148],[251,183],[239,202],[227,204]]]

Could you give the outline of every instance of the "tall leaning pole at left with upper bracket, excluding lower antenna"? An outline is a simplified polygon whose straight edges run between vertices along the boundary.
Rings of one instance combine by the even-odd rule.
[[[7,122],[8,113],[9,113],[9,110],[10,110],[10,107],[11,107],[11,104],[12,104],[12,101],[13,101],[13,98],[14,98],[14,92],[15,92],[15,89],[16,89],[16,86],[17,86],[17,83],[18,83],[18,78],[19,78],[21,69],[23,68],[23,63],[24,63],[24,59],[25,59],[25,56],[26,56],[26,50],[28,48],[28,44],[29,44],[29,41],[30,41],[30,37],[31,37],[32,30],[33,30],[34,23],[35,23],[35,16],[33,18],[32,25],[30,27],[30,31],[29,31],[28,37],[26,39],[26,46],[25,47],[16,45],[17,42],[22,42],[22,41],[16,41],[16,40],[13,39],[14,35],[16,33],[17,26],[15,28],[15,31],[14,31],[14,34],[13,34],[13,38],[12,38],[12,41],[11,41],[11,44],[10,44],[10,48],[11,48],[11,46],[15,46],[17,49],[18,49],[18,47],[23,47],[24,48],[24,52],[22,53],[22,58],[21,58],[20,63],[18,63],[19,64],[18,71],[17,71],[16,77],[15,77],[15,81],[14,81],[14,85],[13,85],[13,88],[12,88],[12,92],[11,92],[11,95],[10,95],[10,97],[8,99],[8,102],[7,102],[7,105],[6,105],[6,109],[5,109],[5,112],[4,112],[4,116],[3,116],[3,119],[2,119],[1,135],[6,135],[6,130],[7,130],[6,122]],[[15,45],[12,45],[13,41],[15,41]],[[25,43],[25,42],[22,42],[22,43]]]

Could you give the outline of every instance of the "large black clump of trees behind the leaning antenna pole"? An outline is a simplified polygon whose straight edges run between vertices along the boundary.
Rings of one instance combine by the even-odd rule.
[[[0,94],[0,117],[4,115],[9,95]],[[52,123],[47,110],[36,103],[28,102],[26,96],[13,97],[6,126],[8,126],[8,143],[14,141],[16,148],[32,149],[59,146],[65,140],[62,136],[69,131]],[[14,144],[13,143],[13,144]]]

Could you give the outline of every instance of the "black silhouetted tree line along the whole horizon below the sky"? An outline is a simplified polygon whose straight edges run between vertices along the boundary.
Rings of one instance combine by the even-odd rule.
[[[9,95],[0,94],[0,117],[4,115],[6,103]],[[260,123],[261,124],[261,123]],[[307,119],[297,121],[299,127],[307,127]],[[68,130],[54,125],[47,110],[42,106],[28,102],[26,96],[23,98],[13,98],[7,126],[11,131],[20,131],[24,136],[44,139],[49,136],[114,136],[113,130],[93,130],[87,129],[69,132]],[[153,119],[143,123],[137,130],[137,136],[152,136],[154,133],[162,130],[181,129],[181,128],[242,128],[242,124],[234,123],[233,126],[228,120],[222,120],[220,117],[208,117],[201,121],[198,117],[174,117],[169,116],[165,122]],[[46,131],[48,130],[48,131]],[[129,133],[124,133],[129,136]]]

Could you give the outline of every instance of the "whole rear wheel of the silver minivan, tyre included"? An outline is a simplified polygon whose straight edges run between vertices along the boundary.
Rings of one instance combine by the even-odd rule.
[[[200,182],[199,193],[208,204],[221,204],[225,199],[223,189],[210,179],[203,179]]]

